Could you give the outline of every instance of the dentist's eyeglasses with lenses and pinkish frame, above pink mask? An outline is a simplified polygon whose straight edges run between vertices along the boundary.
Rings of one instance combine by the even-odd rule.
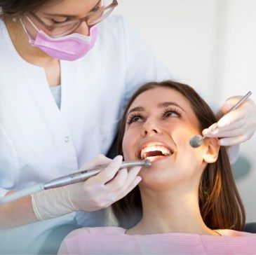
[[[86,22],[88,27],[92,27],[100,23],[102,20],[107,18],[107,16],[112,13],[114,8],[118,5],[116,0],[102,0],[99,1],[97,6],[93,8],[91,13],[86,18],[81,19],[70,19],[65,22],[56,22],[53,25],[46,25],[38,16],[34,13],[29,13],[25,17],[36,29],[42,29],[43,32],[46,32],[48,36],[52,37],[61,37],[66,36],[74,32],[81,25],[82,22]],[[22,18],[22,22],[24,22]]]

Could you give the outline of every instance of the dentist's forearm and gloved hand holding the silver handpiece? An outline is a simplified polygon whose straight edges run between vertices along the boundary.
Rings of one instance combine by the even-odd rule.
[[[141,167],[119,170],[122,156],[110,160],[103,155],[86,163],[81,170],[109,164],[105,170],[86,181],[53,188],[0,205],[0,228],[13,228],[34,221],[43,221],[76,210],[95,211],[123,198],[140,182]],[[8,195],[8,194],[7,194]]]

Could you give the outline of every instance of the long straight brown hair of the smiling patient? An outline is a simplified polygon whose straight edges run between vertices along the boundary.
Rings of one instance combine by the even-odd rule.
[[[130,105],[142,92],[156,87],[172,88],[180,92],[196,114],[201,131],[217,121],[208,104],[189,85],[175,81],[147,83],[134,93],[123,113],[118,141],[118,152],[120,154],[123,153],[122,140],[126,127],[126,114]],[[198,198],[201,216],[208,228],[243,230],[245,211],[231,172],[229,157],[224,147],[220,147],[216,162],[208,164],[203,171],[198,188]],[[138,186],[128,193],[125,198],[115,202],[112,208],[120,226],[123,228],[135,226],[142,218],[142,201]]]

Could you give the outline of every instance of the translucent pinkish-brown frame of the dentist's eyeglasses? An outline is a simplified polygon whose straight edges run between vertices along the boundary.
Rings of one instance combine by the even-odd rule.
[[[69,22],[72,23],[72,22],[74,22],[74,21],[79,21],[79,22],[77,23],[77,25],[74,26],[74,28],[73,28],[71,31],[67,30],[67,34],[63,32],[62,34],[60,34],[60,35],[58,35],[58,36],[52,36],[52,35],[49,35],[49,36],[52,36],[52,37],[54,37],[54,38],[58,38],[58,37],[61,37],[61,36],[66,36],[66,35],[68,35],[68,34],[71,34],[72,32],[74,32],[74,30],[77,29],[77,27],[79,27],[79,26],[81,25],[82,22],[86,22],[86,25],[87,25],[88,27],[93,27],[94,25],[97,25],[98,23],[102,22],[102,20],[105,20],[105,18],[107,18],[107,17],[110,15],[110,13],[112,13],[112,11],[114,10],[114,8],[115,8],[117,5],[118,5],[117,0],[113,0],[113,1],[112,1],[112,4],[109,4],[108,6],[104,6],[104,7],[102,6],[102,7],[101,7],[102,9],[100,10],[100,11],[102,11],[102,14],[103,14],[105,11],[107,11],[107,9],[109,9],[109,12],[107,12],[107,15],[100,15],[100,18],[97,18],[97,19],[95,20],[95,22],[93,22],[93,23],[90,24],[90,25],[88,25],[88,19],[90,18],[90,15],[87,16],[87,17],[85,17],[85,18],[77,18],[77,19],[69,20],[69,21],[67,21],[67,22],[62,22],[62,24],[60,23],[60,25],[63,25],[63,24],[67,25]],[[39,18],[39,17],[38,17],[35,13],[33,13],[33,12],[30,12],[30,13],[29,13],[29,16],[32,16],[32,18],[35,19],[36,22],[39,22],[39,24],[42,25],[44,28],[46,28],[48,32],[53,32],[53,29],[55,29],[55,27],[58,27],[58,24],[46,25],[46,24],[43,22],[43,20],[41,20],[41,18]],[[37,30],[39,30],[39,29],[36,27],[36,25],[34,25],[34,22],[32,22],[32,20],[29,18],[29,16],[25,15],[25,17],[27,18],[27,20],[28,20],[30,23],[32,23],[33,27],[36,28]]]

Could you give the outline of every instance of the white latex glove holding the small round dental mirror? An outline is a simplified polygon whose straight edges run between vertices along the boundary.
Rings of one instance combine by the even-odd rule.
[[[227,113],[241,98],[242,96],[229,97],[220,110],[222,118],[203,130],[203,135],[219,137],[219,144],[222,146],[241,144],[250,139],[256,129],[255,103],[247,99],[236,110]],[[224,115],[225,113],[227,114]]]

